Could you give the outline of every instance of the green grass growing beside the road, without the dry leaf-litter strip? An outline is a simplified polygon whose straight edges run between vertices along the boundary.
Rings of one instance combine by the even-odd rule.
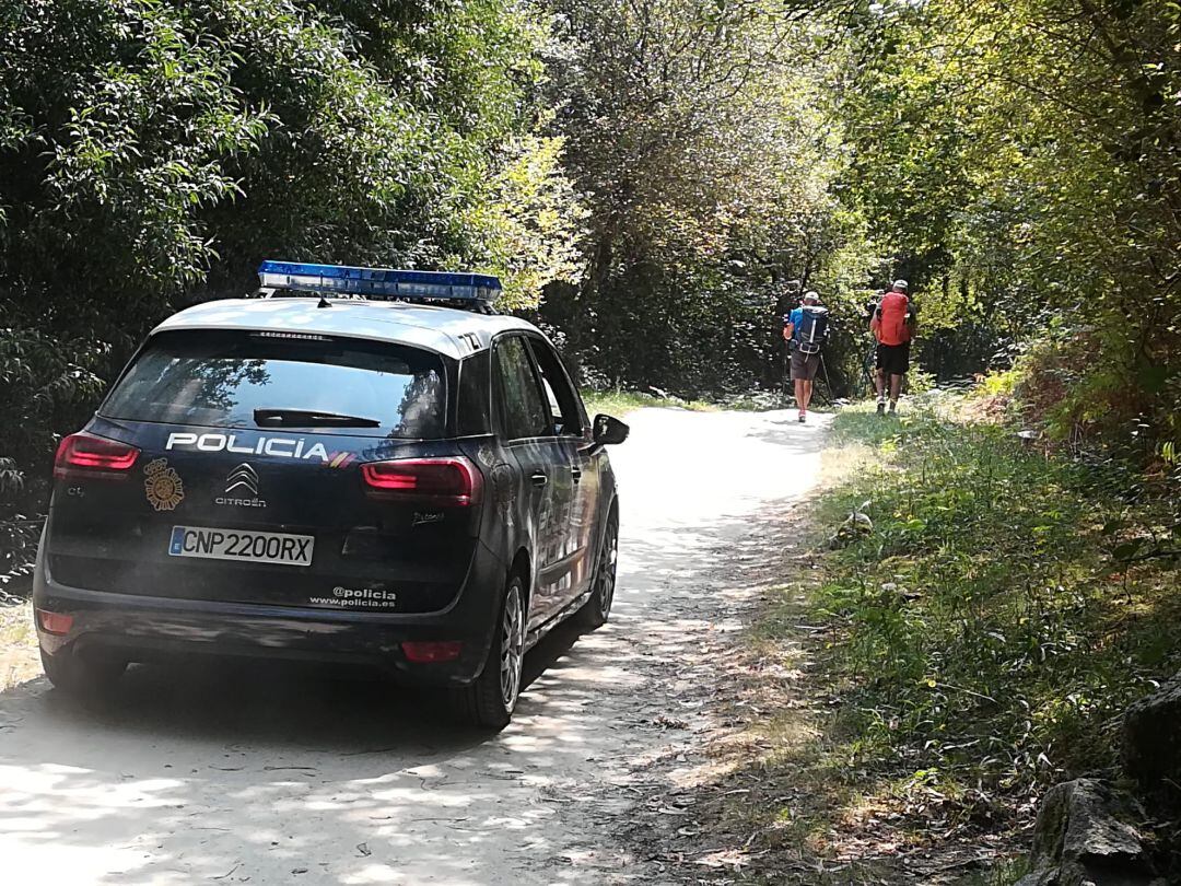
[[[823,786],[804,816],[758,810],[792,820],[785,846],[823,854],[889,821],[901,847],[986,835],[1001,852],[1045,787],[1115,771],[1122,711],[1181,667],[1168,502],[1122,497],[1110,465],[1048,456],[955,403],[837,416],[820,535],[854,510],[872,528],[820,545],[753,627],[755,650],[798,656],[776,650],[811,625],[809,682],[829,699],[807,748],[774,717],[759,730],[771,780]]]

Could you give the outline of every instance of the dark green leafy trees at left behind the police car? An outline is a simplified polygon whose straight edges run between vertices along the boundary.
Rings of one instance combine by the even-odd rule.
[[[144,332],[261,259],[468,267],[514,308],[579,279],[531,5],[0,0],[0,521]]]

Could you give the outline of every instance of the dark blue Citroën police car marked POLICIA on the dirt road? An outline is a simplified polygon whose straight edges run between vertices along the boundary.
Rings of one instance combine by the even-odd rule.
[[[524,652],[615,588],[619,503],[496,278],[263,262],[162,323],[57,452],[34,618],[61,690],[193,653],[360,663],[508,723]]]

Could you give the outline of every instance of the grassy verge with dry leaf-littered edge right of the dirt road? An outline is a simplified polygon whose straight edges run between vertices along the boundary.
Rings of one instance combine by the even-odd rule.
[[[749,862],[717,882],[1012,886],[1045,788],[1115,775],[1181,667],[1167,477],[1070,457],[1012,385],[833,421],[702,794]]]

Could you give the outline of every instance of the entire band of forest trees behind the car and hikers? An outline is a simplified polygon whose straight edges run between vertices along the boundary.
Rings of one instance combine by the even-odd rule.
[[[0,582],[57,439],[265,258],[500,274],[581,380],[777,386],[788,282],[1181,482],[1164,0],[0,0]]]

